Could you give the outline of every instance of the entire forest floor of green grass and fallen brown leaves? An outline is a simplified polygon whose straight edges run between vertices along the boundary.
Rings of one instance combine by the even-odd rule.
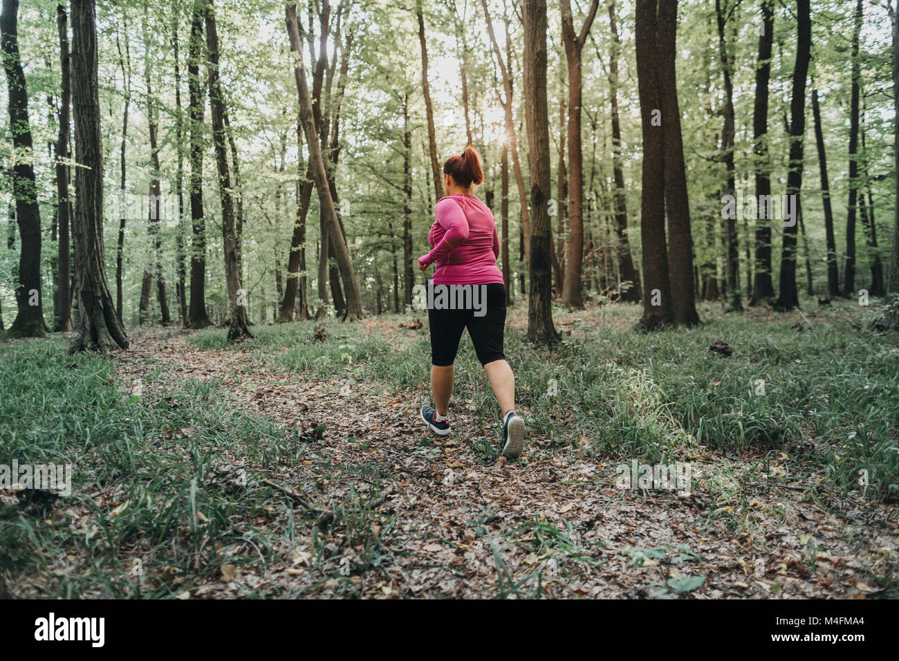
[[[71,460],[76,479],[70,498],[0,490],[0,594],[899,595],[899,349],[866,330],[875,309],[708,305],[699,328],[654,335],[633,306],[556,310],[553,352],[523,343],[524,314],[515,461],[467,335],[453,433],[426,431],[414,316],[234,345],[132,331],[112,361],[66,357],[62,338],[4,347],[0,460]],[[709,352],[718,339],[734,353]],[[620,479],[675,462],[689,482]]]

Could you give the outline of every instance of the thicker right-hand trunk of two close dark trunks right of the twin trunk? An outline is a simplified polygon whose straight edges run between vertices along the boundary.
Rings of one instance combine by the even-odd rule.
[[[793,68],[793,98],[790,101],[789,165],[787,195],[794,200],[794,217],[784,223],[780,252],[779,297],[774,308],[786,311],[799,307],[796,286],[797,216],[802,189],[803,137],[806,133],[806,76],[812,50],[812,17],[809,0],[797,0],[797,49]]]

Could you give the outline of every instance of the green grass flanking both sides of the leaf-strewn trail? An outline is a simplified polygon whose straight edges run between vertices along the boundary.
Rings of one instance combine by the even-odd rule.
[[[506,354],[534,440],[528,460],[563,453],[669,462],[691,460],[702,446],[711,447],[742,461],[742,468],[728,469],[725,460],[721,469],[731,473],[700,477],[708,485],[694,484],[694,492],[731,489],[744,505],[746,483],[768,474],[770,460],[784,453],[792,471],[787,478],[814,478],[826,487],[823,500],[864,491],[873,500],[895,501],[897,338],[864,330],[873,310],[840,303],[814,314],[810,329],[799,313],[772,322],[761,312],[724,315],[717,306],[703,306],[705,323],[698,328],[643,335],[632,330],[636,307],[593,308],[558,315],[571,335],[551,351],[526,344],[521,330],[507,327]],[[427,329],[399,327],[409,320],[382,317],[378,328],[329,321],[329,336],[318,343],[311,322],[255,326],[258,337],[241,346],[303,378],[372,382],[426,397]],[[806,329],[797,331],[795,322]],[[716,339],[734,354],[709,353]],[[231,351],[223,329],[195,333],[191,341]],[[311,562],[321,582],[296,594],[316,594],[325,583],[336,584],[337,594],[358,594],[353,578],[396,567],[383,543],[396,523],[378,512],[383,480],[377,463],[332,466],[314,444],[236,410],[216,381],[171,380],[160,365],[136,396],[113,378],[113,360],[67,356],[66,349],[58,335],[0,345],[0,463],[74,467],[73,496],[56,507],[0,503],[0,596],[19,594],[14,588],[24,581],[35,586],[29,594],[49,597],[171,597],[218,578],[223,565],[267,564],[295,548],[314,517],[260,478],[304,460],[325,479],[346,483],[343,501],[327,504],[331,530],[352,540],[358,552],[346,567],[340,549],[314,543]],[[467,337],[456,366],[457,406],[497,419]],[[472,443],[477,461],[494,462],[491,439],[478,436]],[[423,442],[415,451],[435,450]],[[246,467],[253,478],[230,484],[232,467]],[[601,474],[614,479],[609,470]],[[859,483],[866,474],[867,487]],[[313,502],[314,488],[311,493],[311,505],[325,505]],[[716,517],[730,517],[732,529],[743,525],[721,508],[706,523]],[[494,594],[539,595],[550,559],[563,573],[569,563],[587,566],[577,532],[538,519],[491,540],[499,545]],[[539,558],[528,576],[513,580],[503,566],[501,549],[509,544],[530,545]],[[280,588],[254,594],[279,595]]]

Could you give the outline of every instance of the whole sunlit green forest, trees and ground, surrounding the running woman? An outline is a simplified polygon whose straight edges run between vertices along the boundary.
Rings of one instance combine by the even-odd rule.
[[[2,0],[0,595],[895,598],[896,10]],[[520,460],[414,413],[468,146]]]

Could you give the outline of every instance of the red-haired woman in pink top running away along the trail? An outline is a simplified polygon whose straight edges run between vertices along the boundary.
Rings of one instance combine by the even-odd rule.
[[[447,196],[437,202],[437,221],[429,233],[431,252],[418,259],[426,271],[435,264],[429,283],[428,321],[431,327],[431,391],[434,406],[422,406],[422,419],[434,433],[445,436],[449,428],[449,397],[453,386],[453,361],[462,331],[467,328],[475,344],[477,360],[484,366],[490,387],[503,411],[503,455],[515,459],[524,446],[524,420],[515,415],[515,377],[503,354],[505,325],[505,285],[503,272],[496,268],[500,241],[494,214],[478,200],[474,187],[484,181],[480,159],[470,145],[461,156],[450,156],[443,164],[443,186]],[[453,287],[457,285],[457,287]],[[434,290],[458,292],[467,288],[472,305],[437,305]],[[450,299],[452,294],[450,294]],[[486,299],[474,309],[476,301]],[[444,297],[445,300],[445,297]]]

